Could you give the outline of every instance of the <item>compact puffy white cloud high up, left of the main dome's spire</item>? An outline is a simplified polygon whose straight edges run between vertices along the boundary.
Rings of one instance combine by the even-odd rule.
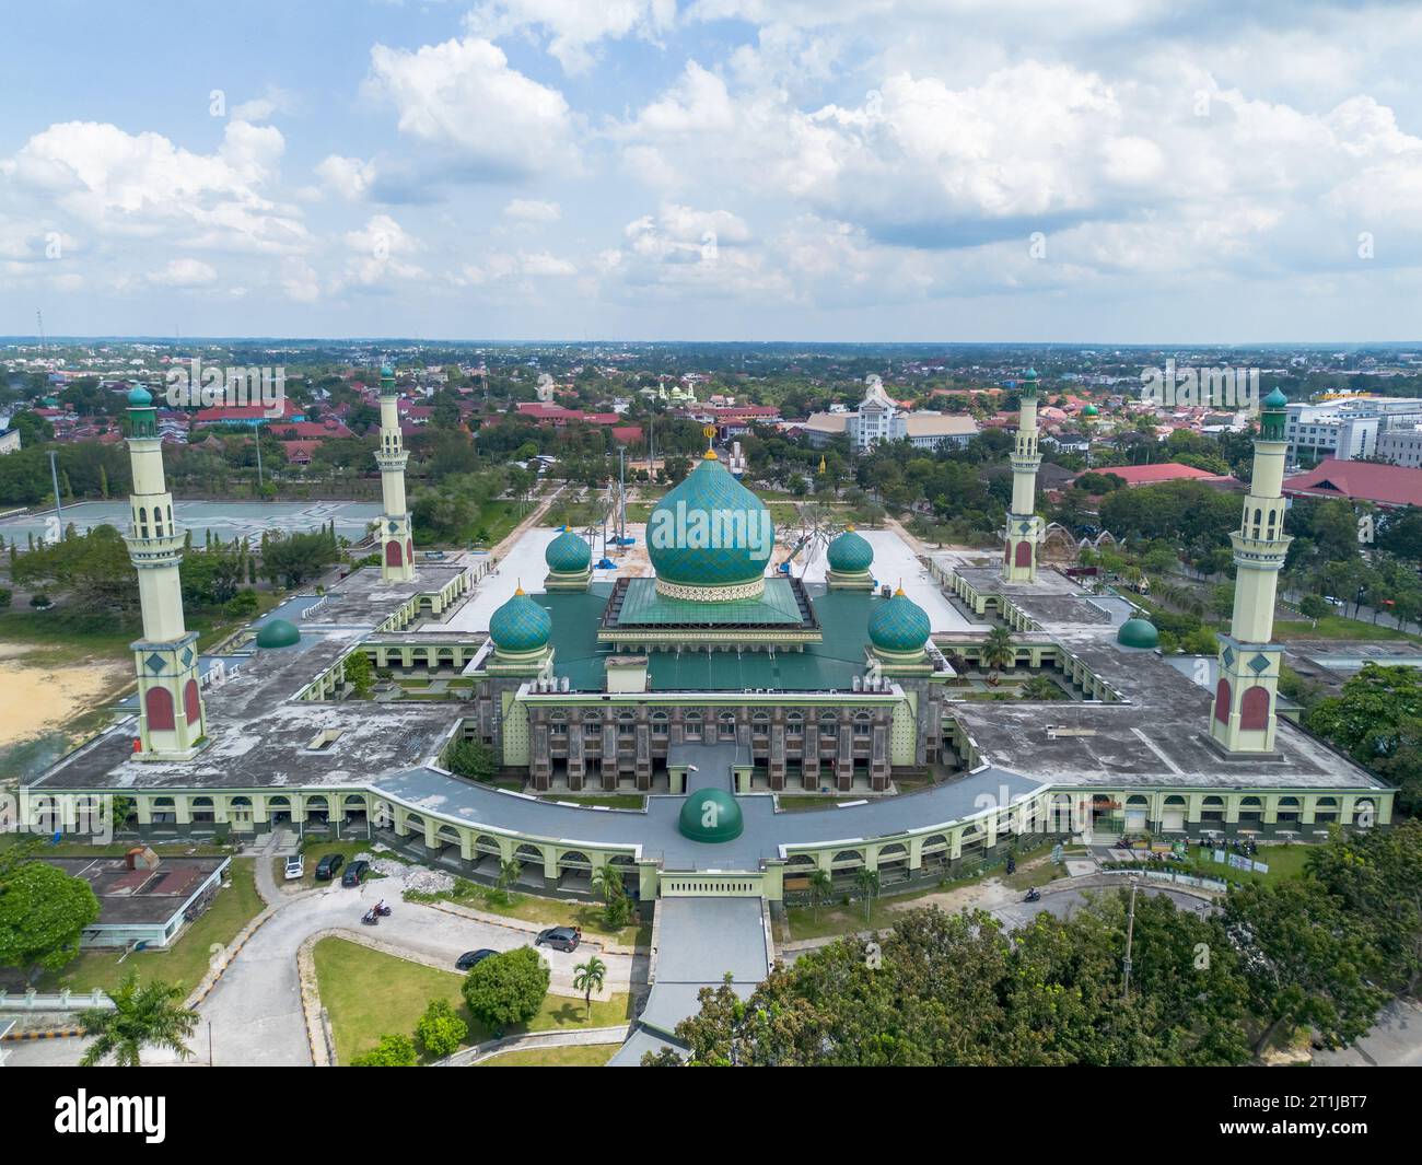
[[[522,178],[576,158],[563,94],[512,68],[488,40],[412,53],[377,44],[370,61],[368,91],[394,105],[401,134],[448,151],[456,178]]]

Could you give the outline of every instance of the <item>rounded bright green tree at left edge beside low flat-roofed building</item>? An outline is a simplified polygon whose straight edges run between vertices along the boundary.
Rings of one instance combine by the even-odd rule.
[[[80,953],[98,919],[90,883],[58,866],[24,861],[0,872],[0,966],[58,970]]]

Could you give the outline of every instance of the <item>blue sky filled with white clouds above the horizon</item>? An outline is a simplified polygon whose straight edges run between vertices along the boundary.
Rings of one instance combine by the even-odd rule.
[[[9,3],[0,334],[1418,339],[1422,9],[1241,7]]]

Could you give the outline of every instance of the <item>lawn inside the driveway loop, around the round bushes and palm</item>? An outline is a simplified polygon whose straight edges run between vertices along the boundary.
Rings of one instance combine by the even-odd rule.
[[[493,1038],[493,1033],[475,1021],[465,1007],[459,991],[464,976],[458,972],[435,970],[346,939],[321,939],[313,954],[321,1004],[330,1013],[336,1058],[341,1064],[375,1047],[381,1036],[412,1037],[415,1023],[434,999],[448,1000],[469,1024],[466,1046]],[[590,1016],[579,999],[547,996],[526,1027],[513,1027],[505,1034],[613,1027],[631,1018],[630,1009],[626,993],[613,994],[606,1003],[593,1000]]]

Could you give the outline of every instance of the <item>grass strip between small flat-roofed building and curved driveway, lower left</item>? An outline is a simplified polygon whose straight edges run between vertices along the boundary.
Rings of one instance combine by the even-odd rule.
[[[232,859],[232,885],[218,892],[212,906],[192,923],[168,950],[142,950],[122,963],[119,952],[87,950],[58,974],[46,976],[41,991],[73,987],[112,990],[132,970],[144,982],[161,979],[191,991],[208,973],[213,946],[226,946],[252,919],[262,913],[262,896],[253,881],[252,858]]]

